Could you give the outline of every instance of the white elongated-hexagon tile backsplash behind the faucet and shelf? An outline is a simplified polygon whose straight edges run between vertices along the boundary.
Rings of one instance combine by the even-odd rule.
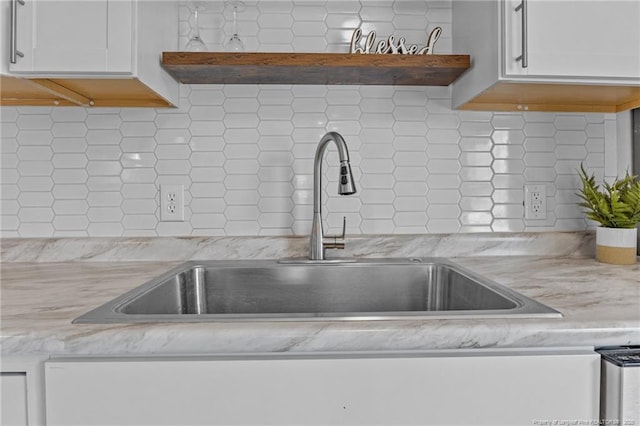
[[[222,50],[230,21],[207,2],[202,35]],[[193,17],[180,9],[181,44]],[[346,51],[353,28],[451,51],[450,1],[247,2],[249,51]],[[340,132],[358,193],[324,168],[327,232],[581,230],[576,168],[604,174],[608,114],[452,111],[447,87],[183,85],[177,109],[2,107],[3,237],[306,235],[313,155]],[[523,218],[544,183],[547,219]],[[159,220],[160,184],[185,188],[185,221]]]

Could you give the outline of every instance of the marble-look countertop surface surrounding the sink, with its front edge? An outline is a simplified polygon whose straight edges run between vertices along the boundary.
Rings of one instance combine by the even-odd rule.
[[[3,262],[2,355],[213,354],[640,344],[640,266],[588,257],[458,257],[563,318],[71,324],[180,262]]]

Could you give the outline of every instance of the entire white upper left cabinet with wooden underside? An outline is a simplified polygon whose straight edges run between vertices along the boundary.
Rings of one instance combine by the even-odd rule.
[[[0,0],[0,105],[168,107],[175,0]]]

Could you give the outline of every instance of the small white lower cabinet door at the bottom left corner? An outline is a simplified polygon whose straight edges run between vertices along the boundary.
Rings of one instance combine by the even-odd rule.
[[[27,426],[26,373],[0,373],[0,424]]]

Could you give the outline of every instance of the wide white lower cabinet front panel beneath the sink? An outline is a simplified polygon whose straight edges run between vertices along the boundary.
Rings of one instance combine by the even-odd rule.
[[[598,419],[590,349],[51,360],[56,425],[531,425]]]

